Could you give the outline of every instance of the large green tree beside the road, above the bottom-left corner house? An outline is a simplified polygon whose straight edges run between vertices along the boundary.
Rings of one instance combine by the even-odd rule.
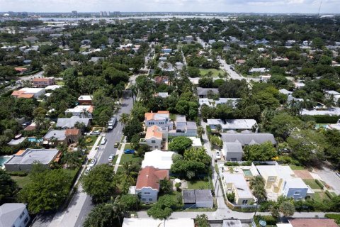
[[[30,183],[23,187],[19,199],[28,204],[28,211],[33,214],[53,211],[64,203],[71,183],[72,177],[66,170],[40,170],[30,175]]]

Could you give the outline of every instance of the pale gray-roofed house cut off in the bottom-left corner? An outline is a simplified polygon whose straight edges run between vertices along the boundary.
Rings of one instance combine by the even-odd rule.
[[[30,215],[25,204],[8,203],[0,206],[0,227],[26,227]]]

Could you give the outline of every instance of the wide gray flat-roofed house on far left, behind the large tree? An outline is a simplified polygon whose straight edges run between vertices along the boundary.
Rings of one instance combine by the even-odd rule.
[[[4,165],[6,171],[29,171],[34,162],[48,167],[58,156],[57,149],[26,149],[19,150]]]

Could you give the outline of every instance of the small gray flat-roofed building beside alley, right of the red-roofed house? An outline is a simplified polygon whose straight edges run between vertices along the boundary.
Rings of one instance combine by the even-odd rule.
[[[188,208],[212,208],[214,201],[209,189],[182,190],[183,205]]]

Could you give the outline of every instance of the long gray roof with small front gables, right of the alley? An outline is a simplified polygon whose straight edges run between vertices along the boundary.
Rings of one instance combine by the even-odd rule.
[[[262,144],[271,142],[276,145],[274,135],[271,133],[221,133],[223,143],[241,143],[244,145]]]

